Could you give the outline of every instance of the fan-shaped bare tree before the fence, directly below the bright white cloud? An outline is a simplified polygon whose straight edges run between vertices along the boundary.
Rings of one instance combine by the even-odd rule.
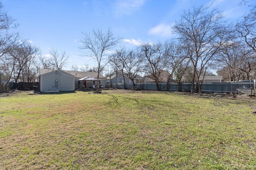
[[[145,43],[140,45],[140,55],[144,58],[144,70],[154,77],[156,90],[159,90],[159,78],[168,65],[169,45],[165,43]]]

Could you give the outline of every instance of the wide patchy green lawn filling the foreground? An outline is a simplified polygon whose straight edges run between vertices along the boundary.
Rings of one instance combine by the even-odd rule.
[[[0,169],[255,169],[250,103],[129,90],[2,97]]]

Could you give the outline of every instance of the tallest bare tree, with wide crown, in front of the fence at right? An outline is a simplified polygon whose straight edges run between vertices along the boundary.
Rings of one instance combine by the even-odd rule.
[[[184,11],[180,20],[172,27],[178,33],[182,47],[186,49],[187,56],[194,66],[193,81],[199,83],[199,77],[204,75],[204,70],[218,52],[225,35],[222,30],[222,14],[216,9],[208,12],[209,7],[193,7]],[[199,86],[199,93],[202,86]],[[194,93],[194,86],[192,86]]]

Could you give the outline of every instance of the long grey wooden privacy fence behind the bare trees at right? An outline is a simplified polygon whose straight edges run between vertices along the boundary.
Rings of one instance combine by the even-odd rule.
[[[135,83],[135,86],[141,90],[156,90],[156,84],[154,83]],[[190,92],[192,90],[192,83],[170,83],[168,86],[169,91],[178,91],[178,86],[180,86],[181,92]],[[195,89],[198,90],[196,84],[194,84]],[[238,88],[246,86],[248,88],[254,89],[254,80],[248,80],[244,82],[221,82],[221,83],[203,83],[202,92],[203,93],[231,93],[239,91]],[[112,88],[124,89],[124,84],[112,84]],[[106,88],[110,88],[110,84],[106,84]],[[132,89],[132,83],[126,83],[125,89]],[[166,90],[166,83],[159,83],[160,90]],[[195,90],[195,91],[196,91]]]

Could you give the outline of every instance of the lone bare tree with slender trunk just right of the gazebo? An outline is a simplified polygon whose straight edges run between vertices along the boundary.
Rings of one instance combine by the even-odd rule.
[[[85,50],[83,52],[84,57],[90,57],[97,61],[98,76],[100,76],[101,69],[106,66],[104,63],[107,59],[108,52],[110,52],[118,43],[121,38],[114,37],[111,29],[108,29],[105,33],[101,29],[93,29],[90,33],[82,33],[83,37],[80,39],[82,44],[79,49]],[[97,81],[99,84],[99,80]],[[97,92],[98,86],[97,86]]]

